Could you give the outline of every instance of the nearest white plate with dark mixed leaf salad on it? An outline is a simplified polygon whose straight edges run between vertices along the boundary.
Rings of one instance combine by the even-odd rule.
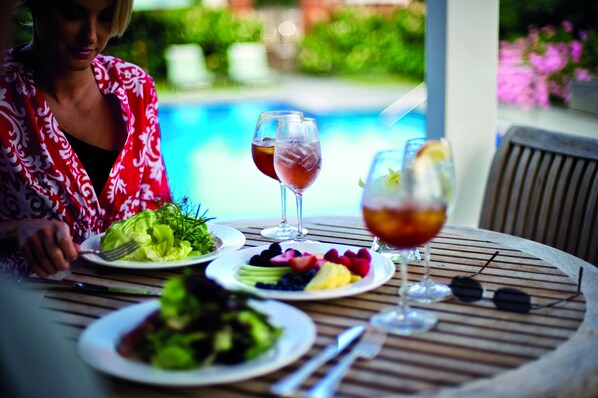
[[[316,328],[302,311],[229,292],[190,273],[167,281],[159,300],[112,312],[78,342],[81,358],[126,380],[200,386],[245,380],[297,360]]]

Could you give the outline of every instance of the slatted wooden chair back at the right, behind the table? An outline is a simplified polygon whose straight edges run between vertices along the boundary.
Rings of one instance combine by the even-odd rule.
[[[598,266],[598,140],[511,127],[492,162],[479,226]]]

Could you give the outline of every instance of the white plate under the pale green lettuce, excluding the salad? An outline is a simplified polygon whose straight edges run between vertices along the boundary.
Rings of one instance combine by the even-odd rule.
[[[225,225],[208,223],[208,230],[210,233],[222,241],[222,245],[211,253],[202,256],[187,257],[184,260],[151,262],[151,261],[106,261],[102,260],[95,254],[84,254],[86,260],[96,264],[105,265],[114,268],[135,268],[135,269],[163,269],[183,267],[191,264],[205,263],[207,261],[218,258],[224,254],[234,252],[245,245],[245,235],[241,231]],[[81,243],[81,250],[100,250],[100,238],[103,234],[94,235]]]

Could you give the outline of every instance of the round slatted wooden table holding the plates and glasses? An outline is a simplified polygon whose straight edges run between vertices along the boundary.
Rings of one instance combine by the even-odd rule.
[[[272,220],[228,223],[247,237],[247,247],[268,244],[260,229]],[[369,247],[372,237],[358,218],[306,219],[311,239],[323,243]],[[491,302],[451,299],[420,305],[434,311],[437,326],[417,336],[389,335],[381,354],[357,362],[345,377],[338,396],[378,397],[422,394],[439,397],[596,396],[598,394],[598,270],[561,251],[524,239],[474,228],[446,227],[432,241],[432,277],[449,283],[454,275],[479,269],[496,251],[500,254],[476,277],[490,297],[498,287],[512,286],[532,295],[534,303],[566,297],[576,289],[579,267],[585,269],[582,293],[556,307],[516,314],[498,311]],[[113,286],[159,289],[180,269],[131,271],[94,265],[77,268],[69,279]],[[418,280],[422,266],[410,266]],[[315,345],[299,361],[245,382],[203,388],[156,388],[103,377],[113,396],[268,396],[273,382],[295,370],[347,327],[367,322],[395,305],[399,273],[385,285],[357,296],[314,302],[291,302],[315,321]],[[47,291],[47,309],[73,344],[83,329],[111,311],[141,299]],[[336,360],[304,385],[312,385]]]

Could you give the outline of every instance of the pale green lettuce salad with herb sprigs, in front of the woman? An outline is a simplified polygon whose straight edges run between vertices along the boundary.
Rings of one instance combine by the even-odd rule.
[[[187,214],[176,203],[157,210],[143,210],[113,223],[100,239],[104,250],[114,249],[133,239],[141,246],[124,257],[129,261],[177,261],[214,251],[216,244],[208,231],[205,213]]]

